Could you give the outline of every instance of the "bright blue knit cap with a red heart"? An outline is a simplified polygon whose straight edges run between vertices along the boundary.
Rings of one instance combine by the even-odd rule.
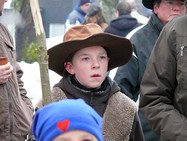
[[[51,141],[70,130],[83,130],[103,141],[103,119],[82,99],[65,99],[39,109],[33,120],[32,132],[37,141]]]

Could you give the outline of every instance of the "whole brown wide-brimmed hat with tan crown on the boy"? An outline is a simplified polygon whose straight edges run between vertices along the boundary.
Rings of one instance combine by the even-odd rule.
[[[63,76],[64,63],[76,51],[92,46],[102,46],[110,51],[108,71],[126,64],[132,56],[130,40],[104,33],[97,24],[78,25],[69,29],[64,35],[64,42],[48,49],[49,69]]]

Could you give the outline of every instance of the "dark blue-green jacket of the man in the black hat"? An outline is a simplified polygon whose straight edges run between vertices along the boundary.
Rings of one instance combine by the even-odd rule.
[[[140,93],[140,83],[144,71],[154,47],[154,44],[163,28],[163,24],[155,14],[152,15],[148,24],[138,30],[132,37],[134,53],[136,55],[124,66],[118,68],[114,80],[118,83],[121,91],[134,101],[137,101]],[[140,120],[146,141],[158,141],[158,137],[151,131],[140,112]],[[151,138],[152,137],[152,138]]]

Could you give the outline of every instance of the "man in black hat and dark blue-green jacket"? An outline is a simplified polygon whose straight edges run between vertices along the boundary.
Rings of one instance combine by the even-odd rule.
[[[121,91],[134,101],[138,100],[140,93],[140,84],[144,71],[152,52],[153,46],[163,28],[163,26],[179,15],[186,12],[186,8],[180,8],[180,2],[184,4],[185,0],[143,0],[143,5],[153,9],[153,15],[148,24],[135,32],[130,38],[134,56],[126,64],[118,68],[114,80],[118,83]],[[172,5],[174,5],[172,7]],[[184,6],[184,5],[182,5]],[[151,79],[151,78],[150,78]],[[159,138],[152,131],[150,125],[139,112],[142,128],[146,141],[158,141]]]

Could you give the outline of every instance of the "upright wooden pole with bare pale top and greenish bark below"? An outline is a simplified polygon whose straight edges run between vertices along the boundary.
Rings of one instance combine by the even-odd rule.
[[[38,0],[30,0],[30,6],[31,6],[32,16],[36,29],[36,46],[37,46],[38,60],[40,65],[43,105],[46,105],[52,101],[50,83],[49,83],[49,73],[48,73],[48,55],[46,50],[46,36],[44,32]]]

